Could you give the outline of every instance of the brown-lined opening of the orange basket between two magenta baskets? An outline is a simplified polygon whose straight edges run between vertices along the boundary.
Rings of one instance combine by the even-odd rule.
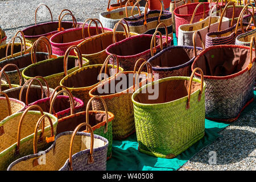
[[[117,42],[126,39],[125,32],[115,32]],[[113,44],[113,32],[106,32],[98,35],[92,40],[85,40],[79,46],[82,54],[93,54],[104,51],[107,47]]]

